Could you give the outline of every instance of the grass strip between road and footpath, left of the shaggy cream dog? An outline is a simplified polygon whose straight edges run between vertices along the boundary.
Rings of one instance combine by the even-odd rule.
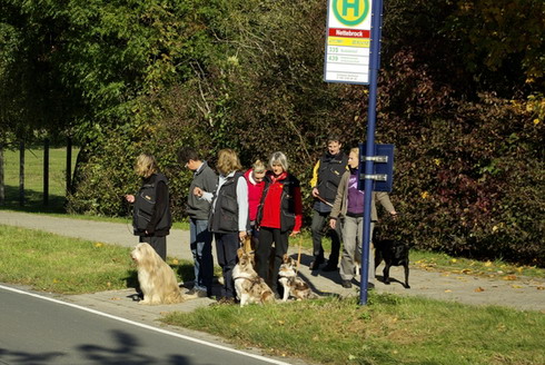
[[[0,226],[0,282],[37,290],[81,294],[136,287],[130,248]],[[192,265],[176,260],[181,279],[192,279]]]

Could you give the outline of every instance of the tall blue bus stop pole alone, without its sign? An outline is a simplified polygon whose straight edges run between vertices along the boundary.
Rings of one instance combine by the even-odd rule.
[[[377,80],[380,67],[380,32],[383,23],[383,0],[374,0],[371,6],[369,105],[367,112],[367,140],[365,147],[365,196],[364,196],[364,240],[361,249],[361,283],[359,304],[367,305],[369,280],[370,206],[373,199],[373,172],[375,156],[375,124],[377,118]]]

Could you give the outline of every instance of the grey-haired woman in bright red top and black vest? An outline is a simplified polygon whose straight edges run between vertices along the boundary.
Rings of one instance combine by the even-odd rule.
[[[256,249],[257,273],[278,296],[278,269],[288,251],[288,237],[301,229],[303,204],[299,180],[288,172],[288,160],[283,152],[274,152],[270,171],[265,176],[265,188],[257,214],[259,244]],[[270,248],[275,244],[272,272],[269,273]],[[279,297],[279,296],[278,296]]]

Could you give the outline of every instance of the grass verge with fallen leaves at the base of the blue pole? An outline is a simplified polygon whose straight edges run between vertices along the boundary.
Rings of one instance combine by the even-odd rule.
[[[371,293],[172,313],[169,325],[320,364],[545,364],[545,315]]]

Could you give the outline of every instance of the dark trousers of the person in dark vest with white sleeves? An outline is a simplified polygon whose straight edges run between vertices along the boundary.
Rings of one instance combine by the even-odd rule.
[[[224,275],[221,296],[234,298],[232,268],[237,265],[237,249],[240,247],[238,231],[232,234],[215,234],[214,237],[216,238],[218,264]]]

